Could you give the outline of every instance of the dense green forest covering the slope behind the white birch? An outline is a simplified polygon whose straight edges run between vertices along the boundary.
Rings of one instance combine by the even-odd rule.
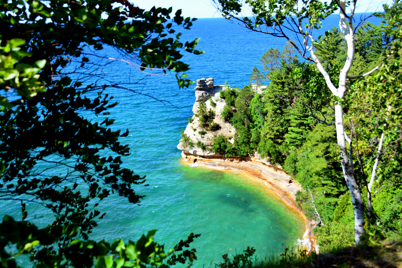
[[[365,207],[364,239],[372,244],[402,239],[401,7],[398,1],[384,5],[384,13],[374,14],[383,19],[381,25],[365,22],[357,28],[350,76],[379,67],[368,76],[349,79],[342,100],[348,154],[365,202],[376,159],[379,165],[371,186],[371,208]],[[315,54],[331,78],[339,76],[346,46],[338,27],[315,44]],[[289,42],[281,51],[268,49],[260,62],[263,69],[254,67],[252,84],[221,91],[226,102],[221,116],[236,134],[233,144],[218,136],[211,149],[228,158],[253,156],[256,151],[296,179],[303,189],[296,202],[318,223],[314,234],[322,252],[355,245],[352,198],[336,138],[338,100],[331,97],[315,64],[299,61]],[[379,151],[384,132],[388,136]]]

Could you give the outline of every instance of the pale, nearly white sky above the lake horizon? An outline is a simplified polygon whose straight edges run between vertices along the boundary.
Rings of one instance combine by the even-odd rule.
[[[174,11],[181,9],[185,17],[212,18],[221,16],[211,4],[212,0],[133,0],[133,2],[146,10],[150,10],[152,6],[166,8],[172,6]],[[381,5],[384,2],[391,4],[392,0],[358,0],[356,12],[382,11]],[[250,12],[244,10],[244,16],[250,16]]]

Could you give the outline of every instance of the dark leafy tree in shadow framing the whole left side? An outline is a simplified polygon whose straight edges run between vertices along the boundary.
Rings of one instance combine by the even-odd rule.
[[[144,176],[123,165],[129,148],[119,138],[128,130],[112,130],[108,118],[117,105],[108,90],[135,92],[135,83],[102,80],[93,71],[102,63],[93,59],[105,57],[90,53],[113,47],[132,58],[139,72],[173,71],[180,75],[178,85],[188,87],[182,53],[203,52],[195,49],[198,39],[182,43],[172,29],[190,29],[195,19],[171,12],[146,11],[126,0],[0,1],[0,200],[21,202],[23,215],[19,221],[5,216],[0,224],[2,266],[15,267],[14,256],[30,254],[38,267],[91,267],[94,258],[98,267],[143,267],[172,253],[152,242],[154,231],[128,244],[88,240],[105,215],[96,208],[99,202],[114,194],[138,204],[143,196],[134,186],[145,185]],[[94,82],[76,80],[78,74]],[[88,113],[103,121],[89,120]],[[53,212],[54,221],[35,227],[27,217],[29,202]],[[173,255],[172,264],[196,258],[183,249],[196,236],[179,243],[176,250],[183,252]]]

